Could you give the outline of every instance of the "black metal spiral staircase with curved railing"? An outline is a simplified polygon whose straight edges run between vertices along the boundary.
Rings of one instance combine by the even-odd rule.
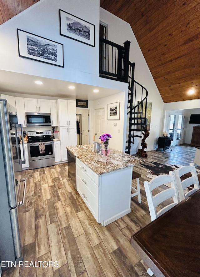
[[[148,91],[134,80],[135,63],[129,62],[128,74],[128,140],[126,153],[131,153],[134,137],[142,138],[143,127],[147,124],[147,96]]]

